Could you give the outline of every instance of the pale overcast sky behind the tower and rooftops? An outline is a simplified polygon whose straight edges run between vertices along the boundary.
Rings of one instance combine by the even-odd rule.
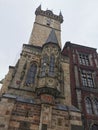
[[[62,11],[62,45],[71,41],[98,48],[98,0],[0,0],[0,79],[28,43],[40,4],[55,14]]]

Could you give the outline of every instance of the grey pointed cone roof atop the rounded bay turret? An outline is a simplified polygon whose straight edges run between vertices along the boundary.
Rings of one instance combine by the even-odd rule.
[[[49,37],[46,40],[46,43],[50,43],[50,42],[58,44],[57,36],[55,34],[55,30],[54,29],[51,30],[51,32],[49,34]]]

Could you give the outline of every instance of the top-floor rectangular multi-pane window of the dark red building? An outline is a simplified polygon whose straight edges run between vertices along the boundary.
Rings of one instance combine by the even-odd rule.
[[[90,65],[89,56],[85,54],[79,54],[79,62],[82,65]]]

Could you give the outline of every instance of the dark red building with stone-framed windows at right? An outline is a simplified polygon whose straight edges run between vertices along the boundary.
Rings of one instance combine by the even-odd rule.
[[[66,42],[71,101],[82,112],[85,130],[98,130],[98,55],[95,48]]]

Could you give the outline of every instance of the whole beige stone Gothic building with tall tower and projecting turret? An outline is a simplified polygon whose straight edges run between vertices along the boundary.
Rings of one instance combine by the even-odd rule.
[[[61,51],[63,16],[36,11],[29,44],[9,66],[0,97],[0,130],[83,130],[71,105],[69,59]]]

